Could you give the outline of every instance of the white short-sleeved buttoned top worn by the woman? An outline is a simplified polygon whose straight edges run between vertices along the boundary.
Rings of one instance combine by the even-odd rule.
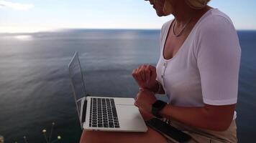
[[[163,48],[171,22],[161,30],[157,63],[157,81],[163,85],[170,104],[236,104],[241,49],[231,19],[218,9],[207,11],[173,58],[165,59]]]

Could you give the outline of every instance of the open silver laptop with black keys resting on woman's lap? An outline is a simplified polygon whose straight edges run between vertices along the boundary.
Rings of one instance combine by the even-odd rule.
[[[86,94],[78,52],[68,64],[70,82],[82,129],[147,132],[147,126],[132,98],[91,97]]]

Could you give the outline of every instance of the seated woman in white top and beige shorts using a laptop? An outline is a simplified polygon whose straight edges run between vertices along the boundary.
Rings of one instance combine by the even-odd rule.
[[[157,67],[142,65],[132,75],[140,87],[142,116],[168,119],[191,142],[237,142],[236,112],[240,46],[232,21],[209,0],[150,0],[158,16],[175,19],[161,29]],[[155,94],[169,104],[155,109]],[[81,142],[171,142],[146,133],[83,132]]]

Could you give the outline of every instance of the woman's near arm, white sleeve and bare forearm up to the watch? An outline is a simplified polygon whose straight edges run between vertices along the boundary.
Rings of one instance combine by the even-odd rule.
[[[224,131],[237,103],[241,56],[237,32],[230,19],[212,16],[201,23],[196,37],[194,54],[204,107],[168,105],[160,114],[193,127]]]

